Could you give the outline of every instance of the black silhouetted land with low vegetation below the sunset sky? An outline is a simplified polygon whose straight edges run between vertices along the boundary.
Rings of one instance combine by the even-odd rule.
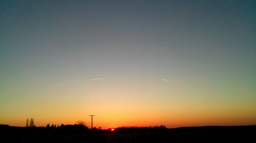
[[[1,142],[256,142],[255,126],[207,126],[167,129],[120,127],[90,130],[80,125],[60,127],[0,126]]]

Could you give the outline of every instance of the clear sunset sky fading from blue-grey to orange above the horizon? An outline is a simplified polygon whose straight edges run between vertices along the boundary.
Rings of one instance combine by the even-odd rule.
[[[0,1],[0,124],[256,124],[255,1]]]

